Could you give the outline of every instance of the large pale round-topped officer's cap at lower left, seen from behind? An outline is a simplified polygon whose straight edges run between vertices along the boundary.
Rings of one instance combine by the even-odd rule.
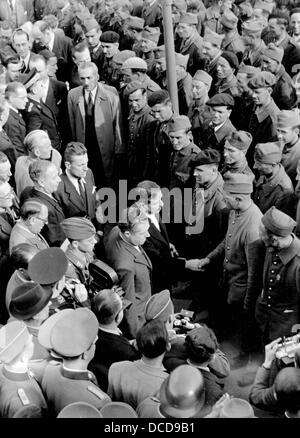
[[[50,333],[52,349],[63,357],[76,357],[87,351],[98,333],[98,321],[93,312],[79,308],[64,315]]]

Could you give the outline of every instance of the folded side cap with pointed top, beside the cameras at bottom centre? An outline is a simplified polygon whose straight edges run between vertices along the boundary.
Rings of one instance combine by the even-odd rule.
[[[145,319],[146,321],[159,319],[165,323],[173,312],[174,306],[170,298],[170,292],[165,289],[149,298],[145,306]]]

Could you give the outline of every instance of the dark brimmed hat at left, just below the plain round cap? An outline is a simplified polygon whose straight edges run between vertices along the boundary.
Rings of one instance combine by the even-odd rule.
[[[28,281],[14,289],[9,304],[9,313],[22,321],[31,319],[47,306],[51,297],[50,287],[42,287],[33,281]]]

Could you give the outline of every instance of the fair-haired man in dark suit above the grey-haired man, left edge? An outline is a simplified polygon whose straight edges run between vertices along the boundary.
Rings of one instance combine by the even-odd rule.
[[[11,82],[5,88],[5,98],[9,104],[9,116],[4,130],[15,147],[17,157],[26,155],[27,151],[24,147],[26,125],[20,113],[28,102],[26,88],[19,82]]]

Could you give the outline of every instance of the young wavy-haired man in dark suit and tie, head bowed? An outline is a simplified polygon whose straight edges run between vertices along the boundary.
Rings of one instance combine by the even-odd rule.
[[[80,216],[94,221],[96,187],[93,173],[88,168],[86,147],[79,142],[69,143],[64,159],[66,170],[60,175],[54,197],[62,206],[65,217]]]

